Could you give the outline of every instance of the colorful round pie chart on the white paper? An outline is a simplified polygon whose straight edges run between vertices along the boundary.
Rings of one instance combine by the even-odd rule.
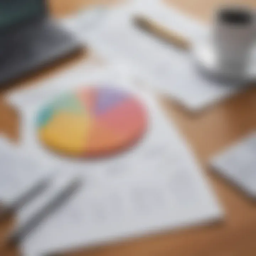
[[[129,148],[145,133],[147,113],[132,93],[86,87],[57,97],[37,116],[39,140],[68,156],[103,156]]]

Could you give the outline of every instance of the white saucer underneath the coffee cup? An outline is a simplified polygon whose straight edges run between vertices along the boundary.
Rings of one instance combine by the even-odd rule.
[[[256,81],[256,47],[252,50],[250,61],[244,74],[235,71],[226,71],[220,67],[218,56],[212,42],[201,42],[193,46],[193,57],[199,69],[214,79],[229,82],[255,82]]]

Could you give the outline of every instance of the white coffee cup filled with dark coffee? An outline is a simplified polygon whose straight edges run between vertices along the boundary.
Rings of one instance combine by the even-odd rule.
[[[222,72],[237,77],[245,73],[255,32],[255,14],[250,9],[232,6],[216,12],[213,40]]]

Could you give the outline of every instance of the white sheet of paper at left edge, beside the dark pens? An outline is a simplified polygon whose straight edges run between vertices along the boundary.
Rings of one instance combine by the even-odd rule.
[[[35,193],[50,173],[50,165],[17,149],[8,139],[0,138],[0,202],[4,208],[15,207],[30,191]]]

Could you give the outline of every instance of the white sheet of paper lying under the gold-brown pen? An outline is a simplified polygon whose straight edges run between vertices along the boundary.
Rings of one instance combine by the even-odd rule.
[[[209,33],[207,26],[157,0],[149,0],[147,4],[134,1],[109,10],[104,22],[98,22],[93,29],[83,27],[82,14],[77,19],[65,20],[63,24],[105,58],[122,59],[137,67],[151,88],[192,111],[199,111],[238,90],[237,85],[204,78],[196,69],[190,53],[141,33],[131,22],[131,17],[138,13],[181,33],[193,43],[206,38]]]

